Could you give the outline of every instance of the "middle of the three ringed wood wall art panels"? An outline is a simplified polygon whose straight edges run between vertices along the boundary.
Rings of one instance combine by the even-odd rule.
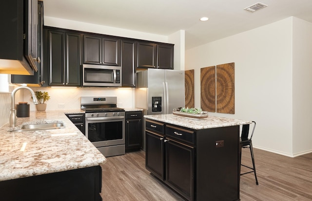
[[[215,66],[200,69],[200,107],[215,112]]]

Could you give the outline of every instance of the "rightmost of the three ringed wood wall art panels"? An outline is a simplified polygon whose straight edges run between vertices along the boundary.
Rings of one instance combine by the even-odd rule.
[[[216,66],[216,112],[235,113],[234,63]]]

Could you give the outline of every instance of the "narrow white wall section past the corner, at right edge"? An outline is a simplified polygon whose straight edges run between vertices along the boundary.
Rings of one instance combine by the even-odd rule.
[[[312,23],[293,18],[292,143],[293,153],[312,149]]]

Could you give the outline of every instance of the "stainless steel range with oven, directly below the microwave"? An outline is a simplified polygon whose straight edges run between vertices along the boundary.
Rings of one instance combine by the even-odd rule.
[[[85,134],[105,156],[125,154],[125,110],[117,97],[81,97],[85,111]]]

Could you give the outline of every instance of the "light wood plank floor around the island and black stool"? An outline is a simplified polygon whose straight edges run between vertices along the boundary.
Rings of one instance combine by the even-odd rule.
[[[290,158],[254,148],[254,157],[259,185],[254,174],[241,176],[241,201],[312,201],[312,153]],[[249,149],[242,164],[251,165]],[[145,169],[144,151],[108,157],[101,166],[103,201],[183,201]]]

